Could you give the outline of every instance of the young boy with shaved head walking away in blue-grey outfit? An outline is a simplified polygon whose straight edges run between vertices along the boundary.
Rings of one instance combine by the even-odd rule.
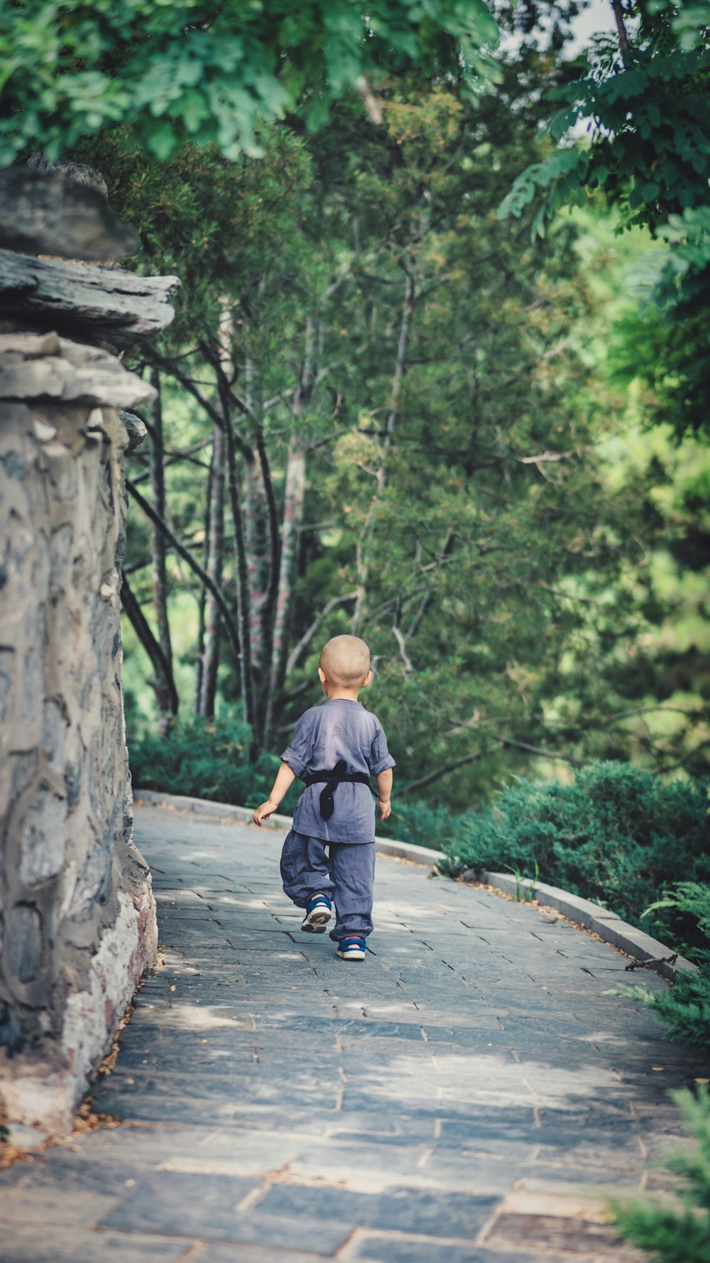
[[[373,932],[375,875],[375,807],[369,788],[376,777],[380,816],[392,807],[394,759],[375,715],[358,701],[373,678],[370,650],[355,635],[336,635],[321,653],[318,676],[327,702],[301,716],[267,802],[254,812],[254,823],[268,820],[298,777],[306,782],[293,813],[293,829],[283,844],[283,889],[299,908],[301,926],[322,935],[335,901],[336,921],[330,937],[342,960],[364,960],[365,938]],[[326,846],[330,854],[326,856]]]

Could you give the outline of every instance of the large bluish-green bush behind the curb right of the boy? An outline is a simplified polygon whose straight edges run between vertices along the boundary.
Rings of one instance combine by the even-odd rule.
[[[509,866],[595,899],[628,921],[665,887],[683,878],[710,883],[707,782],[671,784],[624,763],[595,763],[571,784],[519,781],[481,812],[459,821],[445,841],[443,868]],[[678,945],[701,947],[695,922],[678,909],[657,907],[651,932],[686,926]]]

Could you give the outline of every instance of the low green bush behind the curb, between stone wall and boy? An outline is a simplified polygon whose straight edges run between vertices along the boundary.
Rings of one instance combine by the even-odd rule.
[[[280,760],[260,754],[250,763],[250,741],[249,725],[232,710],[217,719],[181,720],[167,738],[129,741],[133,782],[140,789],[258,807],[269,794]],[[296,807],[299,788],[293,786],[283,799],[287,815]]]

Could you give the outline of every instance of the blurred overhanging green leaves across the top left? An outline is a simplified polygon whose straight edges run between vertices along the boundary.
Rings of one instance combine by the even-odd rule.
[[[493,77],[483,0],[15,0],[0,6],[0,164],[49,159],[104,126],[135,125],[167,158],[188,139],[259,154],[259,119],[316,130],[365,76],[418,67]]]

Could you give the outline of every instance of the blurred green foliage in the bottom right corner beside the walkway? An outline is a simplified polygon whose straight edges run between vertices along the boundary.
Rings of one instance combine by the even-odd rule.
[[[617,1202],[614,1215],[627,1240],[656,1263],[705,1263],[710,1259],[710,1096],[702,1087],[697,1096],[687,1089],[671,1095],[697,1142],[694,1153],[666,1163],[683,1176],[680,1200]]]

